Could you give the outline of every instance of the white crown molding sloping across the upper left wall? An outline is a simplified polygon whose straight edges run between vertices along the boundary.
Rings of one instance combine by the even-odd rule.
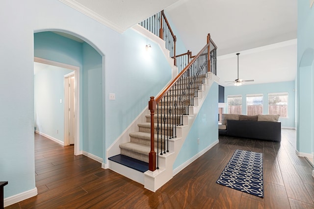
[[[111,21],[105,19],[103,16],[97,14],[96,12],[90,10],[89,8],[87,8],[86,6],[78,3],[75,0],[59,0],[62,3],[72,7],[73,9],[79,11],[80,13],[83,13],[84,15],[96,20],[99,23],[104,24],[107,27],[110,27],[111,29],[119,32],[119,33],[123,33],[124,29],[122,27],[120,27],[119,25],[112,23]]]

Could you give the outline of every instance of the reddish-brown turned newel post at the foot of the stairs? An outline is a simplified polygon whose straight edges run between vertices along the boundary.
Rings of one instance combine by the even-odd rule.
[[[151,100],[148,102],[148,109],[151,111],[151,151],[148,154],[148,169],[150,171],[156,170],[156,152],[155,152],[155,126],[154,126],[154,112],[156,110],[156,101],[154,96],[151,96]]]

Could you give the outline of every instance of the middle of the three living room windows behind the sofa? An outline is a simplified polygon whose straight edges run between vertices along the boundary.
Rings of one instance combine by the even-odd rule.
[[[263,114],[263,94],[246,95],[246,115],[255,116]]]

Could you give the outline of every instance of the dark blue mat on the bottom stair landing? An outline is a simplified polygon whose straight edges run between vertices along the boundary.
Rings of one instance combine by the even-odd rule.
[[[112,157],[108,158],[108,160],[123,164],[127,167],[133,168],[133,169],[138,170],[142,173],[148,171],[148,163],[145,163],[143,161],[139,161],[139,160],[134,159],[134,158],[130,158],[130,157],[125,156],[125,155],[112,156]]]

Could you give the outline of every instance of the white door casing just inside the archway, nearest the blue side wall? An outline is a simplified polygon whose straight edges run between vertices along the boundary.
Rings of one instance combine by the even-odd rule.
[[[74,70],[75,73],[75,143],[74,143],[74,155],[81,155],[82,150],[79,149],[79,67],[68,65],[65,63],[55,62],[52,60],[43,59],[40,57],[34,57],[34,62],[52,65],[60,68],[66,68]],[[65,117],[65,116],[64,116]],[[64,124],[65,126],[65,124]],[[65,140],[65,139],[64,139]],[[65,144],[66,141],[64,141]]]

